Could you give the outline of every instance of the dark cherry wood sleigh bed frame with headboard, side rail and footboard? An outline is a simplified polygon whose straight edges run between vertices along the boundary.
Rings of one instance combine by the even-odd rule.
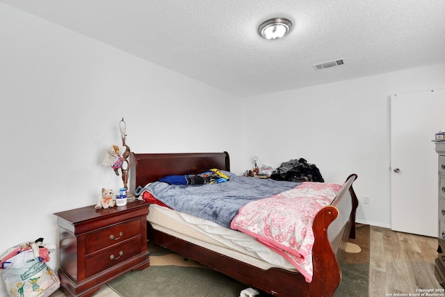
[[[156,182],[167,175],[196,174],[209,168],[230,171],[229,154],[227,152],[132,153],[130,193],[134,193],[137,186]],[[270,268],[265,271],[154,230],[148,222],[147,239],[273,296],[333,296],[341,282],[341,259],[348,237],[355,238],[355,211],[358,200],[352,185],[356,178],[357,175],[350,175],[332,204],[321,209],[316,215],[313,225],[315,242],[312,250],[311,283],[306,282],[303,275],[298,272],[282,268]]]

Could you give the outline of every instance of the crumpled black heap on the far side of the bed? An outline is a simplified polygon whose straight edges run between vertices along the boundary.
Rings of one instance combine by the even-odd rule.
[[[270,178],[289,182],[325,182],[317,166],[307,163],[303,158],[281,163]]]

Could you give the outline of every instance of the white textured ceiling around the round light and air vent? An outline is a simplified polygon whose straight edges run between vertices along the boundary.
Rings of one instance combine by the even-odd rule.
[[[0,2],[236,97],[445,63],[444,0]],[[271,17],[291,19],[290,34],[261,38]]]

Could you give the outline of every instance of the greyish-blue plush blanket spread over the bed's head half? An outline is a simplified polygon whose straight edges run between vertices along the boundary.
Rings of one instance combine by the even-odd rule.
[[[145,186],[143,191],[149,191],[156,199],[172,209],[212,220],[230,228],[230,222],[244,204],[268,198],[301,184],[241,177],[223,170],[222,172],[229,177],[228,182],[194,186],[154,182]]]

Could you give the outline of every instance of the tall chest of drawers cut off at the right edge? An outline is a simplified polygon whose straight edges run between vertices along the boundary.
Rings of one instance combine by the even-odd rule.
[[[437,248],[438,257],[435,261],[435,275],[439,283],[445,284],[445,139],[433,141],[436,145],[436,152],[439,154],[439,246]]]

